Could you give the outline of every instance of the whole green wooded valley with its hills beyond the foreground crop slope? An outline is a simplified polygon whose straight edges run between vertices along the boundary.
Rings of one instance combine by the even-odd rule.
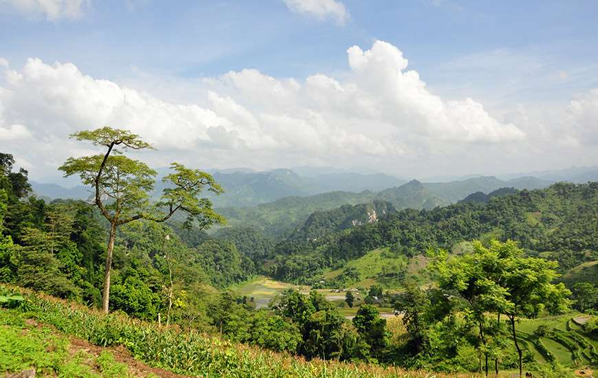
[[[203,177],[214,191],[221,190],[207,173],[174,168],[177,175]],[[257,182],[252,181],[253,173],[242,173],[235,185],[250,187]],[[14,186],[7,188],[26,183],[25,175],[20,175],[8,176]],[[241,184],[245,179],[250,181]],[[176,180],[175,186],[162,188],[170,196],[166,199],[178,198],[169,192],[177,188]],[[503,187],[506,183],[513,186]],[[102,303],[97,288],[102,282],[102,239],[110,224],[85,201],[46,202],[24,193],[13,190],[3,213],[2,277],[5,284],[15,286],[1,288],[0,302],[5,298],[6,304],[0,307],[18,313],[21,304],[13,306],[11,298],[23,292],[27,303],[40,304],[36,299],[40,291],[84,304],[81,311],[94,311]],[[23,195],[29,196],[28,202],[19,199]],[[40,208],[43,217],[24,223],[36,219],[35,209]],[[133,328],[123,329],[119,336],[119,340],[132,337],[126,339],[130,348],[146,348],[135,336],[124,336],[138,332],[134,330],[139,320],[149,327],[166,322],[166,330],[175,324],[191,333],[212,335],[199,337],[190,346],[193,353],[203,351],[203,343],[210,340],[203,337],[216,335],[225,343],[240,343],[230,353],[242,354],[242,345],[249,344],[309,361],[335,356],[340,364],[368,362],[382,368],[399,364],[411,369],[421,364],[452,375],[485,370],[485,358],[489,369],[496,364],[507,375],[515,374],[519,365],[538,374],[562,376],[598,367],[594,182],[412,180],[377,192],[296,195],[201,211],[205,213],[197,214],[210,218],[202,220],[200,215],[188,223],[180,215],[164,223],[150,218],[123,224],[113,236],[107,316],[115,312],[131,319]],[[220,224],[223,219],[228,223]],[[207,230],[202,221],[215,227]],[[528,277],[535,278],[528,281]],[[520,295],[517,287],[522,284],[532,285],[529,290],[535,294],[529,307],[517,312],[511,296]],[[469,291],[468,285],[476,289]],[[486,289],[488,285],[496,288]],[[43,306],[58,311],[58,318],[36,315],[36,321],[65,322],[63,309],[50,302]],[[105,319],[93,322],[111,322]],[[98,342],[78,329],[69,332]],[[458,348],[452,340],[457,340]],[[480,347],[484,342],[488,349]],[[417,352],[421,348],[434,353]],[[173,355],[168,358],[178,358],[174,351],[169,353]],[[144,356],[142,361],[149,366],[169,366],[153,365],[153,357]],[[93,367],[94,359],[98,355],[77,360],[77,368],[102,375]],[[177,363],[171,368],[188,374],[199,371],[194,370],[199,366],[208,368],[206,363],[187,368]],[[60,364],[54,369],[66,368]]]

